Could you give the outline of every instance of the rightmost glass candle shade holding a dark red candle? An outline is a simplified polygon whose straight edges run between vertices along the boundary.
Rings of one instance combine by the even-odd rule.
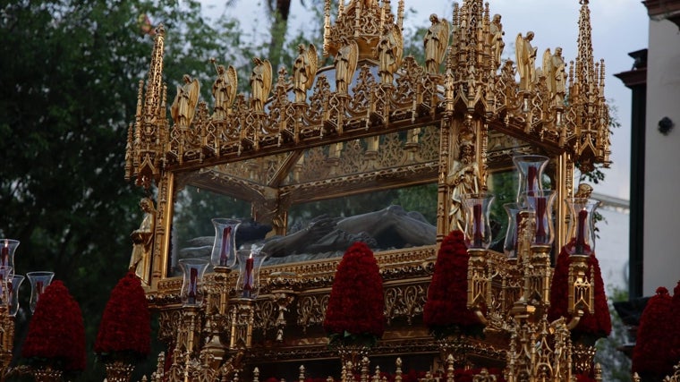
[[[595,250],[595,209],[599,200],[586,198],[565,199],[569,208],[569,230],[566,250],[570,255],[590,255]]]

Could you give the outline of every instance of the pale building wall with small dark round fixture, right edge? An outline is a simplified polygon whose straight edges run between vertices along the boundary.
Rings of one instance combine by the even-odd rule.
[[[665,116],[676,124],[667,135],[658,128]],[[650,296],[680,280],[680,33],[671,21],[650,21],[645,140],[642,289]]]

